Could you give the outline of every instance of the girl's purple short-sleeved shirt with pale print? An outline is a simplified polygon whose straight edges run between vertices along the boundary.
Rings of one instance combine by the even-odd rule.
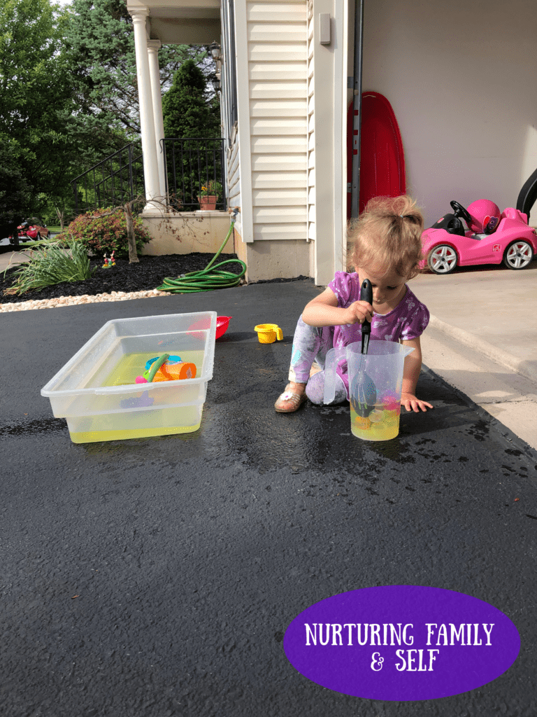
[[[328,288],[337,296],[339,308],[347,308],[360,298],[360,280],[356,272],[348,274],[338,271]],[[429,310],[425,304],[418,301],[407,286],[407,293],[397,304],[395,309],[387,314],[373,314],[371,322],[372,341],[395,341],[400,339],[410,341],[417,338],[427,328],[429,323]],[[354,323],[350,326],[334,326],[334,348],[348,346],[354,341],[362,341],[362,324]]]

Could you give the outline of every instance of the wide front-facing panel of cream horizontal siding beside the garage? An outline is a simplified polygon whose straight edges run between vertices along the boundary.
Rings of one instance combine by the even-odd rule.
[[[254,241],[307,239],[306,1],[246,2]]]

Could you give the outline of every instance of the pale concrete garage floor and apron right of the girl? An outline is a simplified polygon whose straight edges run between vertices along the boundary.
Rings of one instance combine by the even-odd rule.
[[[422,274],[410,286],[431,313],[423,363],[537,448],[537,262]]]

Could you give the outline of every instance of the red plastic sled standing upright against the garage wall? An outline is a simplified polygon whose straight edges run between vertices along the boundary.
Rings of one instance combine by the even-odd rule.
[[[354,107],[347,112],[347,181],[352,182]],[[360,138],[360,200],[362,212],[374,196],[400,196],[407,191],[405,153],[392,105],[379,92],[362,92]],[[347,193],[347,219],[351,194]]]

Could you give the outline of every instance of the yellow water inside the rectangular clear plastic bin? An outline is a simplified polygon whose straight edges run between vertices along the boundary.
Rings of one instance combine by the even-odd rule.
[[[169,352],[178,355],[188,363],[195,364],[197,375],[200,376],[203,366],[203,351],[177,351]],[[135,384],[136,376],[141,376],[145,371],[145,363],[149,359],[158,356],[157,351],[150,353],[125,353],[117,362],[116,366],[104,381],[100,376],[92,381],[94,386],[122,386]],[[159,386],[163,386],[162,382]],[[147,384],[138,384],[140,394],[145,390]],[[120,400],[120,399],[119,399]],[[147,438],[151,436],[172,435],[175,433],[191,433],[197,431],[201,423],[201,406],[179,406],[159,409],[153,404],[147,407],[147,411],[132,411],[128,414],[104,414],[91,416],[77,421],[83,422],[84,430],[72,431],[69,427],[69,435],[73,443],[92,443],[96,441],[125,440],[132,438]],[[154,420],[151,420],[151,417]],[[129,427],[114,425],[125,424],[128,421]],[[155,423],[158,422],[158,425]],[[69,424],[69,419],[67,419]],[[81,427],[81,426],[79,426]]]

